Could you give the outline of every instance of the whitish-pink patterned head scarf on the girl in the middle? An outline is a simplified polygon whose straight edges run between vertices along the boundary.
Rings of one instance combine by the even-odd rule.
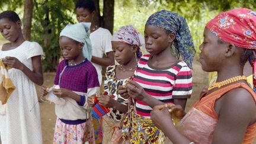
[[[139,33],[139,31],[136,30],[135,27],[133,27],[133,25],[124,25],[121,27],[116,33],[113,34],[111,41],[120,41],[131,46],[136,45],[145,48],[144,37]],[[142,52],[140,51],[139,47],[136,52],[138,59],[142,56]]]

